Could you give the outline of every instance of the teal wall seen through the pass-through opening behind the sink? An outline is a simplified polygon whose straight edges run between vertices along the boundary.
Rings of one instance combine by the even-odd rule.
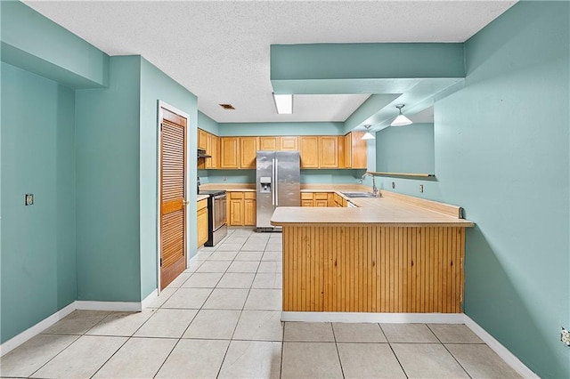
[[[376,171],[435,173],[433,124],[388,126],[376,133]]]

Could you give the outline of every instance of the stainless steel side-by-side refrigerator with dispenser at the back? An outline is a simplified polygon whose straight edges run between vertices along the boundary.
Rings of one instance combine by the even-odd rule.
[[[257,151],[257,230],[275,230],[271,216],[278,206],[301,205],[298,151]]]

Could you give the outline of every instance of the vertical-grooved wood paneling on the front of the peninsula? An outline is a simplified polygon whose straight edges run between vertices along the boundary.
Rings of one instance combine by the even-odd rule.
[[[461,312],[465,228],[283,226],[283,246],[284,311]]]

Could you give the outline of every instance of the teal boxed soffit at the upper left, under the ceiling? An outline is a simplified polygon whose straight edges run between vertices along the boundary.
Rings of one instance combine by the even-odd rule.
[[[109,56],[19,1],[2,1],[2,60],[72,88],[109,83]]]

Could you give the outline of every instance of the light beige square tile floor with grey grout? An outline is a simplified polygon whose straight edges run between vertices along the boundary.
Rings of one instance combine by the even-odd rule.
[[[519,377],[464,325],[282,323],[281,233],[231,229],[139,313],[77,310],[2,377]]]

